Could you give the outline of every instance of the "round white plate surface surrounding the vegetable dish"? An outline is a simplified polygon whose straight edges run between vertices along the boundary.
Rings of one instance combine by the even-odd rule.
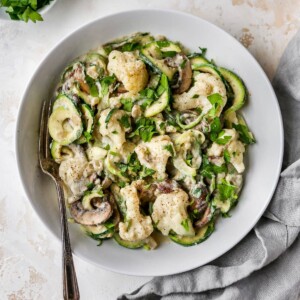
[[[106,241],[97,247],[79,226],[70,225],[75,255],[102,268],[124,274],[161,276],[204,265],[236,245],[266,209],[278,180],[283,156],[283,128],[276,96],[265,73],[233,37],[200,18],[174,11],[137,10],[96,20],[62,40],[44,59],[24,94],[19,110],[16,152],[27,197],[49,230],[60,238],[54,184],[38,166],[38,130],[42,101],[51,97],[64,67],[78,55],[136,31],[163,34],[190,49],[208,48],[208,57],[236,71],[251,97],[243,114],[257,143],[247,153],[247,173],[240,203],[232,217],[220,219],[204,243],[182,247],[166,242],[154,251],[129,250]]]

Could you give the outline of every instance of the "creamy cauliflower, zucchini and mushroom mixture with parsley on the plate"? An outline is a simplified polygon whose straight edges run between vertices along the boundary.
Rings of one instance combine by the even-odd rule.
[[[136,33],[62,72],[49,118],[74,222],[100,244],[154,249],[212,234],[238,203],[246,146],[238,75],[178,42]]]

